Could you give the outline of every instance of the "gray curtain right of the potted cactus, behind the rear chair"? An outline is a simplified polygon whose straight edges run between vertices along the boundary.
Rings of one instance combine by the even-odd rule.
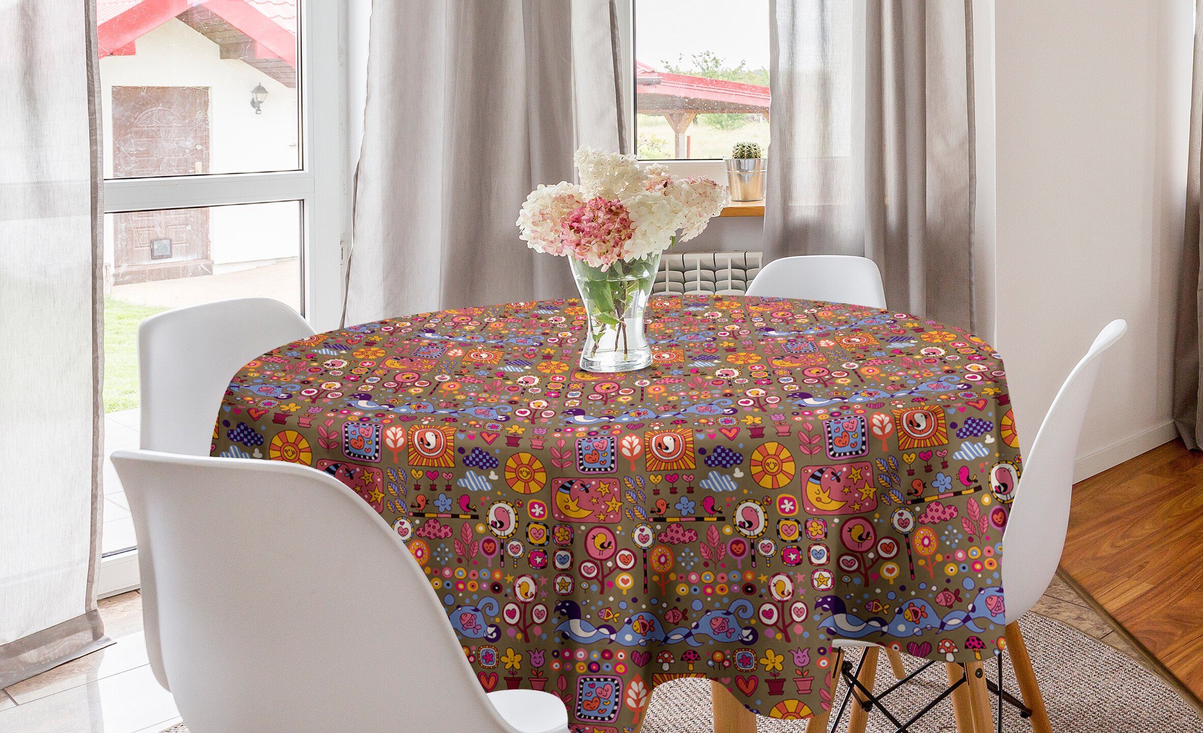
[[[973,327],[971,0],[774,0],[765,255],[860,255]]]

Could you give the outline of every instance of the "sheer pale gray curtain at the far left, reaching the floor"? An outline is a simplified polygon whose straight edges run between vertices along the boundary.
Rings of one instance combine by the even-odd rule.
[[[95,4],[0,2],[0,687],[94,651],[101,204]]]

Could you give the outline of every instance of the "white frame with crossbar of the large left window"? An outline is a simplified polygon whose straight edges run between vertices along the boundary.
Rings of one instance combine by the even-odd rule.
[[[298,6],[300,169],[106,179],[105,213],[301,202],[302,309],[320,333],[339,324],[345,243],[351,231],[351,166],[343,113],[346,6],[326,0],[298,0]],[[141,585],[137,553],[134,548],[101,559],[97,598]]]

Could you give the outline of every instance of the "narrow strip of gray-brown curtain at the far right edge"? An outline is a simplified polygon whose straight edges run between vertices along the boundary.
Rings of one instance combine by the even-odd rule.
[[[1186,447],[1197,451],[1203,440],[1199,392],[1199,322],[1203,321],[1203,250],[1199,216],[1199,169],[1203,167],[1203,13],[1195,10],[1195,70],[1191,81],[1191,142],[1186,162],[1186,227],[1183,274],[1178,288],[1178,333],[1174,338],[1174,425]]]

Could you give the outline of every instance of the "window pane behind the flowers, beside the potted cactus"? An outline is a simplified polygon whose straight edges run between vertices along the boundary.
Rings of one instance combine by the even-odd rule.
[[[641,159],[730,157],[769,147],[769,1],[635,1]]]

